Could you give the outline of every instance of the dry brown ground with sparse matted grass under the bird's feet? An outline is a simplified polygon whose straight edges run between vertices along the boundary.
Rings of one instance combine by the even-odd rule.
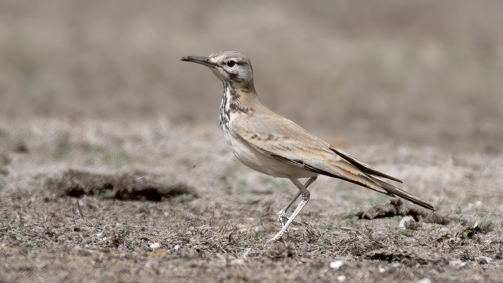
[[[241,165],[216,125],[39,119],[0,128],[3,282],[503,279],[501,156],[353,147],[438,211],[321,177],[304,225],[268,244],[296,189]],[[399,228],[405,216],[414,221]]]

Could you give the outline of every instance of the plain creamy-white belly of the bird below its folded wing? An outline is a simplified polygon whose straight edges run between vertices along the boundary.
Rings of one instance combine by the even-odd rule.
[[[248,144],[242,137],[234,133],[232,130],[224,129],[225,139],[230,147],[230,150],[241,163],[247,167],[259,171],[261,173],[280,178],[309,178],[317,176],[317,173],[303,169],[301,167],[288,164],[278,160],[267,154],[255,149]]]

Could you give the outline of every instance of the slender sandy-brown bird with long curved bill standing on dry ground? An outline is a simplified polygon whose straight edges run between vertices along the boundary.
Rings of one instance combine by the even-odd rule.
[[[182,61],[209,67],[223,83],[220,125],[228,146],[247,167],[279,178],[288,178],[299,189],[290,204],[278,213],[281,230],[268,242],[282,239],[309,201],[307,190],[318,175],[342,179],[389,196],[400,196],[430,210],[435,207],[398,187],[382,181],[401,180],[382,173],[276,114],[260,101],[253,68],[246,55],[236,51],[212,53],[209,57],[185,56]],[[302,184],[298,179],[309,178]],[[302,195],[290,217],[288,208]],[[286,223],[284,222],[286,220]]]

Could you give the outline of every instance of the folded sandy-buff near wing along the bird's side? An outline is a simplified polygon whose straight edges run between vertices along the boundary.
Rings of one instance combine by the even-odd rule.
[[[370,166],[349,155],[346,158],[352,162],[348,161],[322,139],[278,114],[270,112],[238,116],[232,121],[232,129],[263,154],[393,196],[352,162],[361,168]]]

